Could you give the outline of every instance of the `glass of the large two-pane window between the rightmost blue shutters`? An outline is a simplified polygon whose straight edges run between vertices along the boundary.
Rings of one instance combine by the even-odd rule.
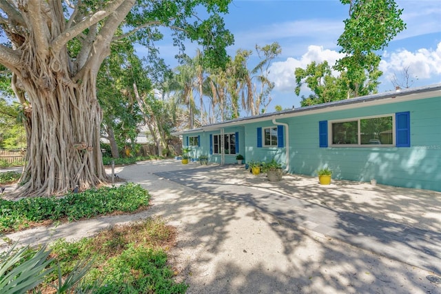
[[[349,121],[331,122],[333,145],[382,145],[393,146],[395,137],[392,115],[365,117]]]

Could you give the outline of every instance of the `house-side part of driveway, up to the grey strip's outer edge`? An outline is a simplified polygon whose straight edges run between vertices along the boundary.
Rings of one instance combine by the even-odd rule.
[[[258,208],[293,228],[340,239],[441,273],[441,193],[285,175],[269,182],[238,166],[156,173],[228,202]]]

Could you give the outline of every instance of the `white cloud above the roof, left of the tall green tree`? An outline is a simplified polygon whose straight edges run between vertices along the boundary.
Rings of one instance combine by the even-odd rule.
[[[305,68],[312,61],[321,63],[325,60],[328,61],[329,66],[334,66],[336,60],[343,56],[343,54],[335,50],[324,50],[322,46],[311,45],[300,59],[288,57],[286,61],[272,63],[269,68],[269,79],[274,81],[274,90],[294,92],[294,88],[296,88],[296,76],[294,75],[294,71],[296,68]]]

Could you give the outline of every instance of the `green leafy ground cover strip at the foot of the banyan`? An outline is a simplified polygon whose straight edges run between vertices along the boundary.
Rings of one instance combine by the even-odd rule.
[[[42,222],[79,220],[108,213],[131,213],[146,208],[150,194],[139,185],[102,187],[64,197],[0,199],[0,233],[19,231]]]

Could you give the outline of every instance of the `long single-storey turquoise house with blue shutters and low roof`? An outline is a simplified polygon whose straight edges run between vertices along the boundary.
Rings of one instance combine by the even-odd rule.
[[[217,164],[276,161],[288,173],[441,191],[441,84],[266,113],[176,133]]]

